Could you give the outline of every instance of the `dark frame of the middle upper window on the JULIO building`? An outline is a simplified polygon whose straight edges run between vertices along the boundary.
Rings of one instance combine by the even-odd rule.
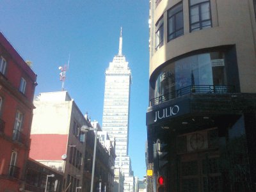
[[[173,13],[173,14],[170,16],[170,12],[171,12],[173,9],[177,8],[177,6],[180,6],[180,4],[181,4],[182,9],[179,10],[178,12]],[[177,16],[180,12],[182,12],[182,28],[177,29],[177,19],[176,19],[176,16]],[[174,27],[175,27],[175,29],[174,29],[174,31],[170,34],[170,31],[169,31],[169,20],[172,19],[172,18],[174,18],[174,19],[173,19],[173,22],[174,22]],[[175,6],[173,6],[172,8],[170,8],[170,9],[167,11],[167,30],[168,30],[168,31],[167,31],[167,40],[168,40],[168,42],[170,42],[171,40],[173,40],[173,39],[175,39],[175,38],[177,38],[177,37],[179,37],[179,36],[182,36],[182,35],[175,35],[175,33],[177,33],[177,31],[180,31],[180,29],[182,29],[182,35],[184,35],[184,15],[183,15],[183,3],[182,3],[182,1],[181,1],[180,3],[175,4]],[[174,34],[173,38],[170,38],[170,35],[173,35],[173,34]]]

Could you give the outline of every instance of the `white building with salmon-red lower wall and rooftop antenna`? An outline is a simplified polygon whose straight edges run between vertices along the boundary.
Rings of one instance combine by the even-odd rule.
[[[66,91],[40,93],[34,104],[29,157],[62,172],[62,190],[83,191],[86,134],[80,128],[92,125]]]

